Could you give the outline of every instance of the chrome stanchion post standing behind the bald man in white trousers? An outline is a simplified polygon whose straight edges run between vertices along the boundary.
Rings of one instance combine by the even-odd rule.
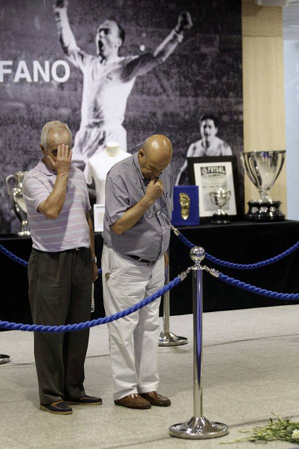
[[[168,260],[169,260],[169,249],[167,250]],[[169,262],[165,268],[165,283],[169,284]],[[163,295],[163,331],[159,336],[159,346],[179,346],[188,343],[186,337],[178,337],[177,335],[170,332],[169,329],[169,290]]]

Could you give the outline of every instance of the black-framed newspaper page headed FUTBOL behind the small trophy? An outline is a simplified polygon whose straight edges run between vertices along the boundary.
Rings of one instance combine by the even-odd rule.
[[[199,216],[201,223],[217,212],[209,193],[222,187],[230,190],[231,196],[224,212],[230,220],[240,220],[240,190],[236,156],[204,156],[187,158],[190,184],[198,186]],[[203,220],[202,220],[203,219]]]

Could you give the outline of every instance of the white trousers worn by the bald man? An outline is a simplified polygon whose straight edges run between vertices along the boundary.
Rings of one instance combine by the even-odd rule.
[[[138,262],[104,243],[102,279],[106,316],[112,315],[142,301],[164,285],[164,258],[149,264]],[[115,400],[157,390],[159,304],[160,298],[108,323]]]

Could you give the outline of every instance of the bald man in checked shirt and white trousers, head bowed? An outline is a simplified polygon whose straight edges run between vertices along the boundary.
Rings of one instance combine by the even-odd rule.
[[[107,175],[102,255],[107,315],[132,306],[164,284],[173,197],[171,156],[169,139],[156,134]],[[159,302],[108,324],[116,405],[133,409],[170,405],[156,391]]]

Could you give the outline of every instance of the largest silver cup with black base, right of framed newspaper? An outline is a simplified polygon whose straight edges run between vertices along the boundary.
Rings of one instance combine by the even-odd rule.
[[[270,189],[280,174],[286,156],[286,150],[241,152],[241,162],[249,179],[260,192],[259,200],[248,202],[249,211],[246,220],[257,222],[277,222],[285,220],[281,212],[281,201],[269,197]]]

